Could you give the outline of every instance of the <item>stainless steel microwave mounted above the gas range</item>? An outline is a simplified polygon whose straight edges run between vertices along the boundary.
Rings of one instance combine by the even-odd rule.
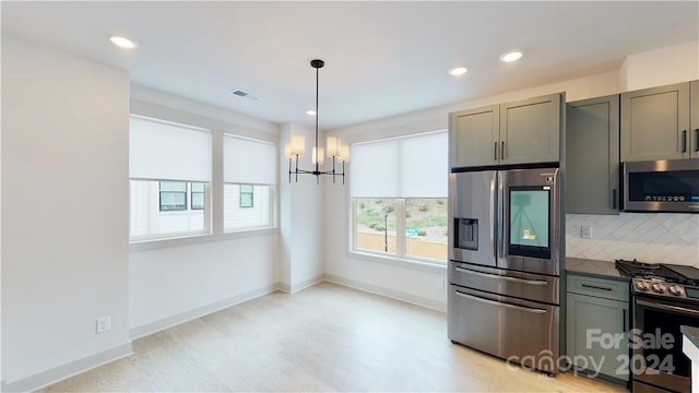
[[[625,211],[699,213],[699,158],[623,166]]]

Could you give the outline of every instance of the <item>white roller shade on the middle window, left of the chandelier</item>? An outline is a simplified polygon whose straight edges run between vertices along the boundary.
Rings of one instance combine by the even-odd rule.
[[[276,146],[270,142],[225,135],[223,177],[228,183],[276,183]]]

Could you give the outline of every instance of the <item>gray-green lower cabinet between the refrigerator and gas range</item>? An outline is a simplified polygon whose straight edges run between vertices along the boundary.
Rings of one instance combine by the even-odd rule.
[[[573,274],[567,283],[568,358],[589,374],[628,381],[628,283]]]

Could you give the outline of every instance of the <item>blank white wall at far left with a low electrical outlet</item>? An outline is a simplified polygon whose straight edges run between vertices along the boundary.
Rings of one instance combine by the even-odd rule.
[[[131,350],[129,75],[3,36],[2,132],[2,377],[22,390]]]

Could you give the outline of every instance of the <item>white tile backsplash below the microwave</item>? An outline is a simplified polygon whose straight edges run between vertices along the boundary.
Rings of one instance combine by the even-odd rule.
[[[581,237],[582,226],[591,227],[591,239]],[[699,267],[699,214],[567,214],[566,257]]]

